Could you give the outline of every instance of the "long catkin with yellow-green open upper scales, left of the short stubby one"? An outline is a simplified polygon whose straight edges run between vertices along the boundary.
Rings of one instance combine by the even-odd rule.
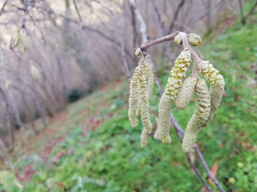
[[[182,78],[186,77],[186,71],[190,65],[191,52],[189,50],[184,50],[177,57],[175,61],[175,66],[171,69],[171,77],[168,78],[168,83],[161,96],[159,103],[159,121],[160,130],[159,136],[163,143],[171,143],[171,137],[169,135],[171,120],[170,111],[171,104],[177,97],[178,89],[182,85]]]

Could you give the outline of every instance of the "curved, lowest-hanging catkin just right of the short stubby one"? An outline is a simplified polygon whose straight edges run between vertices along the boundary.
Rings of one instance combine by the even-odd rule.
[[[210,113],[210,93],[205,80],[197,81],[194,93],[196,96],[195,113],[187,124],[182,143],[182,150],[185,153],[193,151],[198,131],[208,119]]]

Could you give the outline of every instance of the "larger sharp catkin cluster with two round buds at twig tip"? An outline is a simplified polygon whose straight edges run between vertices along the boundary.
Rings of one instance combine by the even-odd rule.
[[[190,102],[194,92],[196,97],[195,113],[187,124],[185,131],[182,150],[185,153],[191,153],[194,143],[197,139],[198,131],[201,127],[206,127],[213,118],[214,112],[218,108],[225,86],[223,76],[219,74],[209,61],[201,61],[195,54],[192,46],[197,46],[201,43],[199,35],[180,33],[174,38],[174,42],[178,45],[184,45],[184,51],[181,52],[175,61],[175,66],[171,69],[171,76],[168,78],[168,83],[159,103],[159,137],[163,143],[171,143],[169,135],[170,130],[170,108],[172,102],[177,97],[177,109],[185,109]],[[187,42],[185,42],[185,39]],[[191,62],[191,53],[195,60],[193,72],[190,77],[187,77],[182,85],[182,78],[186,77],[187,71]],[[210,83],[210,91],[206,81],[198,77],[197,71],[203,75],[205,80]],[[179,88],[181,90],[179,91]]]

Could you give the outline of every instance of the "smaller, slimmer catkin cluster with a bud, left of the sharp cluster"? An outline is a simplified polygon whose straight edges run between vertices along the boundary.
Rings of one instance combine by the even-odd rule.
[[[137,53],[137,51],[135,54],[139,55],[140,52]],[[137,117],[141,116],[141,121],[144,126],[141,133],[141,147],[147,145],[149,134],[152,131],[149,115],[149,99],[152,95],[154,74],[152,67],[148,64],[148,59],[148,55],[145,57],[141,55],[139,65],[136,67],[130,82],[129,121],[132,127],[137,127]]]

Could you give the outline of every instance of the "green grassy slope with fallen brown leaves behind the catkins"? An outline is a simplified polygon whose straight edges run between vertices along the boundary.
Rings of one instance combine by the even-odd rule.
[[[224,76],[226,94],[211,124],[200,130],[197,143],[209,167],[218,161],[217,178],[226,190],[252,192],[257,190],[257,96],[256,87],[251,84],[256,79],[253,64],[257,60],[257,27],[236,23],[236,27],[224,30],[210,45],[200,46],[207,60]],[[159,71],[163,85],[168,72],[169,69]],[[39,156],[40,147],[14,162],[19,170],[26,164],[32,164],[36,170],[30,181],[23,182],[24,191],[199,191],[203,185],[195,173],[190,173],[174,129],[170,131],[170,145],[150,137],[148,146],[140,148],[142,124],[133,129],[127,117],[128,83],[126,80],[116,89],[97,91],[70,106],[65,117],[69,121],[60,125],[56,138],[67,130],[69,133],[55,144],[45,162]],[[150,105],[158,111],[160,97],[156,87],[154,93]],[[172,112],[181,127],[186,127],[194,106],[190,102],[187,109],[179,111],[173,104]],[[92,128],[90,121],[84,119],[89,114],[94,115],[94,122],[104,121],[84,136]],[[151,120],[154,124],[153,117]],[[53,127],[59,124],[60,121]],[[53,157],[67,149],[74,154],[52,164]],[[242,168],[238,162],[243,163]],[[207,179],[197,158],[195,164]],[[230,177],[236,182],[229,183]],[[213,185],[212,188],[216,189]]]

